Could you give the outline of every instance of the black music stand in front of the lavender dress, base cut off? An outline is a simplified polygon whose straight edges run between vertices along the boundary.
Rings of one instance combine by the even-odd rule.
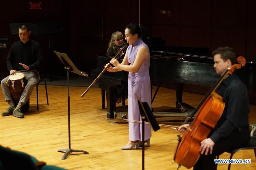
[[[135,93],[135,96],[138,100],[139,104],[139,111],[141,113],[141,120],[142,120],[142,170],[145,168],[145,146],[144,146],[144,137],[145,137],[145,121],[148,121],[153,130],[156,132],[160,129],[160,126],[158,125],[158,122],[156,121],[156,118],[154,117],[150,107],[148,106],[147,102],[141,102],[141,99],[137,96]]]

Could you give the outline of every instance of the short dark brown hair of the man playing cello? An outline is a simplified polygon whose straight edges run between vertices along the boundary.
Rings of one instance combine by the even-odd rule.
[[[236,64],[236,54],[230,47],[219,47],[212,52],[213,56],[220,54],[223,61],[230,60],[231,64]]]

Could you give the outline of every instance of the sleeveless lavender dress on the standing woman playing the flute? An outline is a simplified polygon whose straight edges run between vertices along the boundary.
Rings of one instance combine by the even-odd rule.
[[[151,87],[149,77],[150,53],[148,46],[141,38],[130,45],[127,49],[128,62],[134,64],[137,51],[140,47],[145,46],[148,51],[148,57],[136,73],[129,72],[128,75],[128,114],[129,120],[141,121],[139,105],[135,97],[135,93],[139,96],[142,102],[147,102],[151,108]],[[145,140],[151,137],[151,127],[145,124]],[[139,123],[129,122],[129,140],[142,141],[142,125]]]

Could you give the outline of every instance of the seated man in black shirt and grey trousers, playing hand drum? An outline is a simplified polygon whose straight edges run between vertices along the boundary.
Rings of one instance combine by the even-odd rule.
[[[10,75],[17,72],[23,73],[28,83],[24,87],[19,103],[15,108],[9,87],[6,84],[10,75],[1,81],[5,100],[9,104],[9,107],[6,112],[2,113],[2,116],[13,115],[18,118],[24,118],[24,115],[21,113],[21,107],[28,101],[34,86],[39,82],[38,68],[41,60],[43,60],[43,53],[40,44],[30,39],[30,34],[31,31],[28,26],[21,25],[19,27],[20,40],[13,43],[7,55],[6,63]]]

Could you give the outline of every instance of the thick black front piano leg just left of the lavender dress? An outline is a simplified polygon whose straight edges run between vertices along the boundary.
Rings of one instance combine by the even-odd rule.
[[[114,115],[114,109],[115,109],[114,93],[115,93],[115,88],[106,89],[107,107],[108,107],[107,118],[108,118],[108,120],[115,119],[115,115]]]

